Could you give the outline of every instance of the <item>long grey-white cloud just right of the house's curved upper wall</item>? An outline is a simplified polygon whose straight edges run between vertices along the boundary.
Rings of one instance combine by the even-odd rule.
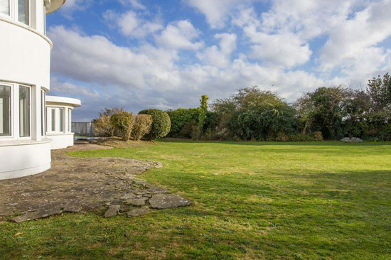
[[[114,45],[103,36],[82,36],[63,26],[50,28],[48,35],[55,43],[53,72],[76,80],[144,88],[148,83],[159,82],[164,73],[175,75],[171,69],[176,54],[166,50],[146,45],[139,53]]]

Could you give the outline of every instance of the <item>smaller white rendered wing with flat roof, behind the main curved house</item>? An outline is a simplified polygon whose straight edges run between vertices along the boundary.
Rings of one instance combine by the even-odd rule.
[[[80,107],[80,100],[46,96],[45,104],[46,136],[52,140],[50,148],[53,150],[73,146],[72,111],[74,107]]]

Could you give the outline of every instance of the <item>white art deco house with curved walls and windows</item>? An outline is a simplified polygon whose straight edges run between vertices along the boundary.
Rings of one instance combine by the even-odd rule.
[[[50,168],[52,141],[45,131],[45,93],[50,90],[53,44],[45,36],[45,14],[59,9],[64,2],[0,0],[0,179]],[[80,101],[50,99],[60,101],[55,109],[64,109],[65,127],[67,109],[80,105]],[[61,117],[58,110],[55,113]],[[55,128],[50,134],[57,131]]]

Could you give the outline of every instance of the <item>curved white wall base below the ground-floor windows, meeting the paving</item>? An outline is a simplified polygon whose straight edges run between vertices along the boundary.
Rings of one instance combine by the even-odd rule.
[[[0,143],[0,180],[41,173],[50,168],[50,140]]]

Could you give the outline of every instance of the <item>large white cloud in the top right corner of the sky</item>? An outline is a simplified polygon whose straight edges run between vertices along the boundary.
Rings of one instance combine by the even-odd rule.
[[[377,46],[391,36],[390,10],[391,1],[375,2],[331,28],[320,53],[320,69],[327,72],[338,68],[350,77],[373,75],[390,55]]]

